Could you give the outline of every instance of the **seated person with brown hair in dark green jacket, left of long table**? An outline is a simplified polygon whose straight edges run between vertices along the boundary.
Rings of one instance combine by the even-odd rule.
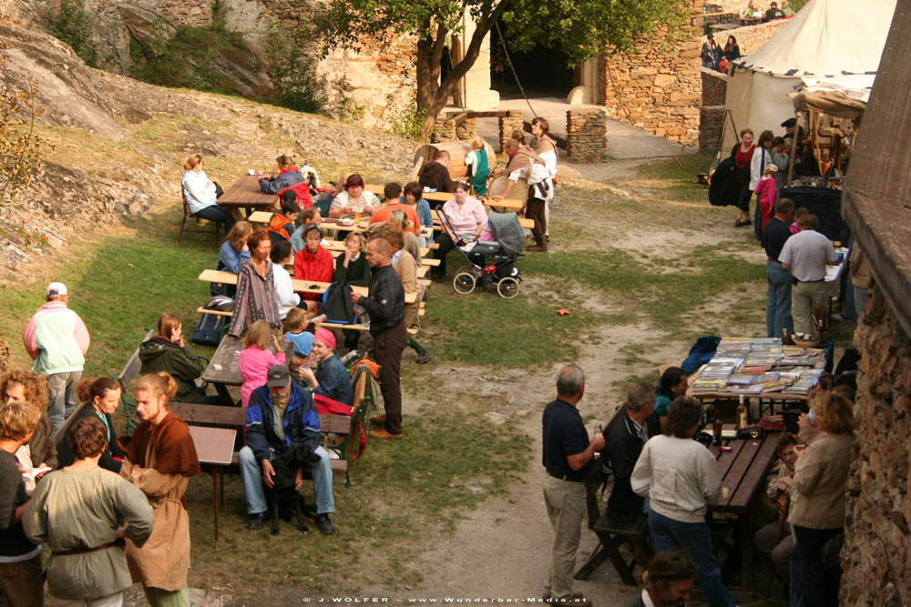
[[[139,345],[139,375],[168,371],[177,382],[177,402],[206,402],[196,387],[202,375],[200,359],[189,349],[180,319],[165,312],[159,319],[159,334]]]

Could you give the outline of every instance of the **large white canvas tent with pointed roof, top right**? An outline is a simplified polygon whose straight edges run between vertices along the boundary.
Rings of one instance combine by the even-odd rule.
[[[895,10],[896,0],[810,0],[765,46],[732,62],[724,106],[733,124],[756,137],[782,135],[798,86],[829,83],[868,96]],[[722,153],[735,142],[729,129]]]

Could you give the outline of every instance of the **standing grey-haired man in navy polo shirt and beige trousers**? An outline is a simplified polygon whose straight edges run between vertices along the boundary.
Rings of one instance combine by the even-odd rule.
[[[586,511],[585,479],[596,465],[595,452],[604,447],[604,437],[589,441],[589,432],[578,412],[585,394],[585,373],[566,365],[557,377],[557,400],[544,408],[542,462],[548,472],[544,479],[544,503],[554,528],[548,576],[544,582],[545,602],[590,607],[581,593],[572,592],[576,550],[582,516]]]

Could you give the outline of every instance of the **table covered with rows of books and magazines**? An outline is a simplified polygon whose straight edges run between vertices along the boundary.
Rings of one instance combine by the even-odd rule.
[[[825,350],[784,346],[778,338],[723,338],[690,378],[700,400],[808,400],[825,369]]]

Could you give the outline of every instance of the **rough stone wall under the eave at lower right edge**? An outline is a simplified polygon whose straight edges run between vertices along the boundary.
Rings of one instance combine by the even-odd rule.
[[[911,604],[911,339],[875,287],[855,346],[862,359],[840,602],[898,607]]]

